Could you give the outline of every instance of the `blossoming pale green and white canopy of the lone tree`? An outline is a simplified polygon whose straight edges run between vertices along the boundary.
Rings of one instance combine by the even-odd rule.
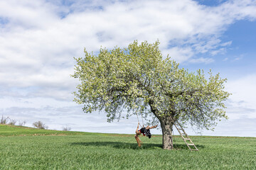
[[[159,41],[139,45],[135,40],[122,49],[101,48],[97,55],[85,50],[85,57],[75,60],[73,77],[80,80],[75,101],[84,105],[85,113],[105,111],[109,122],[123,118],[124,112],[126,118],[151,115],[150,123],[159,121],[163,135],[176,121],[209,129],[227,118],[227,79],[179,68],[171,57],[162,56]]]

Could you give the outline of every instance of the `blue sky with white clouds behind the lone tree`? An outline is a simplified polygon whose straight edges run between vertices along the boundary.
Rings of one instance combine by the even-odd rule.
[[[229,119],[201,135],[256,137],[255,0],[0,0],[0,115],[31,127],[41,120],[54,130],[134,133],[136,115],[107,123],[105,113],[83,113],[70,77],[85,48],[134,40],[159,40],[180,67],[228,79]]]

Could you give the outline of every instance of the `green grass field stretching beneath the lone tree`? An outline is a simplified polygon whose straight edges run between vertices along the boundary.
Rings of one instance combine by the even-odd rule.
[[[160,135],[142,148],[134,135],[0,125],[0,136],[0,169],[256,169],[256,137],[195,136],[190,152],[181,137],[161,149]]]

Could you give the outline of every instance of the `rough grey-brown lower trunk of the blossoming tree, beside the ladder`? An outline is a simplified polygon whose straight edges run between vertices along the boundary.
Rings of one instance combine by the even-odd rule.
[[[166,125],[166,123],[161,122],[161,130],[163,133],[163,149],[167,149],[167,150],[174,149],[173,136],[172,136],[173,124],[170,123],[169,125]]]

